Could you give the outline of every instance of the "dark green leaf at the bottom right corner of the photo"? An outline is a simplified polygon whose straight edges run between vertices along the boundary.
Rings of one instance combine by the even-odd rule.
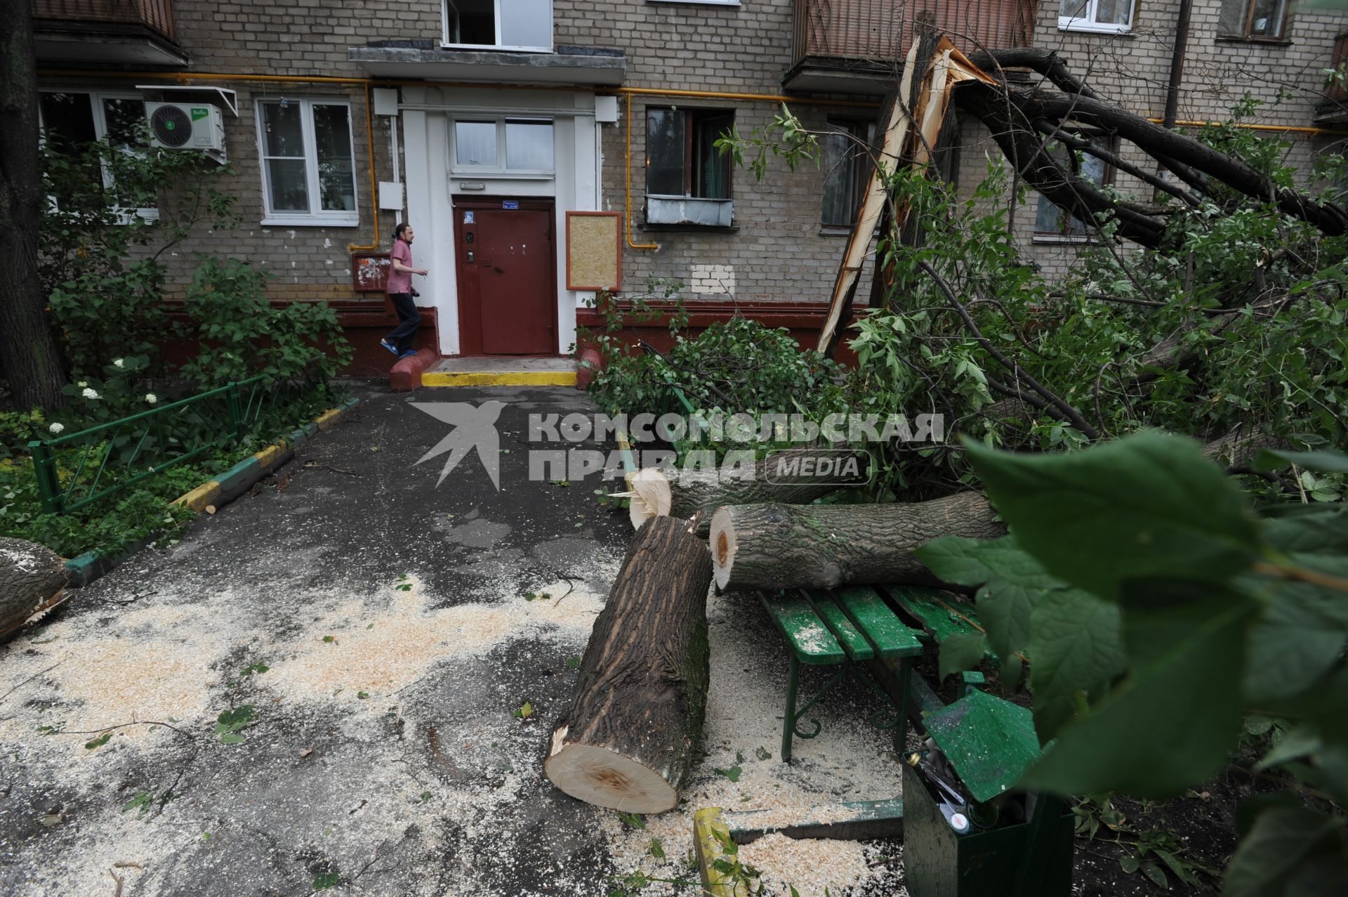
[[[1304,807],[1268,807],[1255,817],[1255,823],[1240,840],[1236,855],[1227,866],[1223,897],[1277,897],[1293,893],[1287,879],[1295,875],[1298,888],[1304,888],[1305,877],[1297,874],[1309,858],[1316,854],[1343,851],[1335,835],[1341,828],[1339,820],[1305,809]],[[1333,858],[1329,869],[1333,869]],[[1340,859],[1341,862],[1341,859]],[[1320,866],[1320,863],[1316,863]],[[1320,879],[1317,884],[1316,879]],[[1343,873],[1316,875],[1309,890],[1297,890],[1297,897],[1318,897],[1320,894],[1343,894],[1348,884]]]

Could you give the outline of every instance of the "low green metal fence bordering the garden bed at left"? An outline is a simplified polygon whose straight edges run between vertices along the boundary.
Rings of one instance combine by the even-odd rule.
[[[28,442],[42,509],[74,511],[243,440],[286,386],[259,375],[78,433]],[[143,469],[119,475],[137,467]]]

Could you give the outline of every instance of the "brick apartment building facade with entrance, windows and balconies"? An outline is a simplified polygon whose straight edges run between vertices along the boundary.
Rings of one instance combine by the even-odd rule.
[[[1322,70],[1348,18],[1285,7],[1193,1],[1178,119],[1225,119],[1250,90],[1270,101],[1256,123],[1294,128],[1291,152],[1309,162],[1344,136],[1333,113],[1325,119]],[[274,299],[334,302],[371,344],[391,318],[379,293],[355,289],[352,270],[359,254],[387,251],[407,219],[418,264],[431,271],[419,286],[434,312],[426,344],[445,355],[555,353],[593,295],[568,289],[568,212],[623,213],[623,293],[662,278],[690,299],[826,301],[856,190],[851,140],[867,134],[919,13],[930,9],[967,45],[1054,47],[1103,94],[1159,119],[1177,8],[36,0],[36,26],[49,129],[116,132],[137,103],[222,109],[243,227],[179,247],[178,287],[195,252],[243,258],[275,275]],[[1273,104],[1279,92],[1289,96]],[[790,173],[774,161],[760,183],[710,144],[731,123],[741,135],[770,124],[783,96],[806,127],[838,135],[822,140],[825,163]],[[952,158],[961,189],[981,177],[985,152],[998,150],[981,125],[961,120]],[[1124,175],[1113,183],[1143,193]],[[1027,258],[1061,272],[1085,236],[1051,212],[1031,198],[1016,233]]]

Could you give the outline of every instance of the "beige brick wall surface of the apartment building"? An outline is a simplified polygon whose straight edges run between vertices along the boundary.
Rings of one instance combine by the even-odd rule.
[[[1181,119],[1223,117],[1244,90],[1274,98],[1279,89],[1291,97],[1260,111],[1266,124],[1309,125],[1320,69],[1328,65],[1333,36],[1343,28],[1343,15],[1294,15],[1287,43],[1260,45],[1216,39],[1220,0],[1196,0]],[[1159,116],[1170,63],[1174,8],[1162,0],[1139,0],[1131,35],[1064,32],[1057,28],[1055,0],[1039,5],[1037,43],[1058,49],[1068,65],[1089,78],[1105,96],[1139,115]],[[257,82],[233,76],[290,76],[294,78],[364,77],[346,61],[350,46],[373,39],[422,39],[438,43],[441,7],[435,0],[390,3],[388,0],[336,0],[319,7],[262,4],[249,0],[212,3],[177,0],[178,36],[198,73],[218,73],[212,84],[239,92],[239,119],[228,119],[228,148],[236,174],[229,179],[239,196],[244,224],[229,233],[202,233],[178,247],[181,267],[175,282],[190,277],[194,252],[222,252],[245,258],[276,275],[274,295],[290,298],[360,298],[350,290],[348,244],[375,240],[371,187],[371,156],[375,179],[392,174],[388,120],[372,116],[365,131],[365,89],[361,85]],[[554,40],[558,45],[612,47],[625,53],[625,86],[647,89],[717,90],[741,94],[778,94],[782,76],[791,63],[791,0],[745,0],[739,7],[648,0],[554,0]],[[96,86],[92,78],[69,82]],[[121,81],[119,81],[121,82]],[[125,81],[137,84],[142,81]],[[49,80],[47,84],[61,84]],[[356,190],[360,225],[352,228],[263,228],[262,177],[257,159],[255,104],[270,97],[342,97],[350,103],[356,158]],[[774,161],[763,183],[748,171],[733,179],[735,232],[679,232],[646,228],[642,220],[646,170],[644,111],[648,105],[686,105],[735,109],[741,134],[770,121],[774,101],[747,98],[632,98],[631,182],[632,240],[658,243],[659,250],[624,251],[628,291],[639,290],[647,277],[697,279],[696,298],[710,298],[708,266],[723,274],[743,299],[816,299],[828,297],[845,240],[821,233],[820,214],[824,173],[807,163],[797,173]],[[869,117],[872,109],[836,105],[793,107],[805,124],[821,128],[830,116]],[[623,209],[625,197],[625,98],[620,120],[601,128],[601,208]],[[976,123],[962,128],[960,185],[968,190],[981,177],[984,152],[995,144]],[[1329,138],[1293,136],[1291,158],[1308,162]],[[372,146],[371,146],[372,144]],[[1140,159],[1139,159],[1140,161]],[[1150,187],[1120,177],[1117,186],[1150,193]],[[1018,237],[1027,256],[1046,271],[1061,272],[1074,258],[1072,245],[1033,241],[1034,197],[1018,213]],[[392,213],[379,214],[379,248],[390,244]],[[702,272],[702,274],[700,274]],[[863,283],[864,297],[868,285]]]

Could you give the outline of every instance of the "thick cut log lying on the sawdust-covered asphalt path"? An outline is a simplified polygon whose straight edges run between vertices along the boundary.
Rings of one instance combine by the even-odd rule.
[[[662,813],[697,758],[710,680],[706,544],[674,517],[636,531],[594,620],[543,773],[597,807]]]

